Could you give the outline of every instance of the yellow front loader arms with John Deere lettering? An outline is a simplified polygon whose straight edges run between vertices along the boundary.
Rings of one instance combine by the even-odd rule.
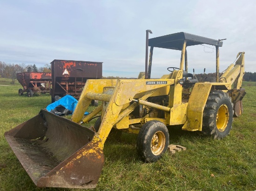
[[[99,85],[99,83],[101,84]],[[102,115],[101,126],[98,132],[103,146],[112,127],[135,108],[135,104],[133,105],[132,102],[136,101],[140,103],[140,100],[147,99],[148,96],[152,95],[158,89],[174,83],[175,79],[88,80],[74,110],[71,121],[78,123],[82,120],[83,114],[91,100],[108,102],[108,107],[104,115]],[[103,94],[103,88],[109,86],[115,87],[113,94]],[[130,104],[130,106],[123,108],[127,104]]]

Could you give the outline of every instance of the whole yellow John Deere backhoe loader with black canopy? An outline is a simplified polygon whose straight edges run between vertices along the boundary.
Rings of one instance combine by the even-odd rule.
[[[182,125],[183,130],[217,139],[229,134],[233,113],[239,116],[243,111],[244,52],[219,73],[219,47],[224,39],[179,32],[148,40],[149,32],[145,72],[138,79],[88,80],[71,120],[42,109],[5,133],[38,187],[94,188],[104,164],[104,143],[122,131],[138,134],[137,151],[145,162],[156,161],[166,152],[167,126]],[[188,73],[186,48],[204,44],[216,47],[216,82],[198,82]],[[181,51],[179,68],[168,67],[168,74],[151,79],[154,47]],[[92,100],[102,104],[84,117]],[[100,113],[94,128],[85,127]]]

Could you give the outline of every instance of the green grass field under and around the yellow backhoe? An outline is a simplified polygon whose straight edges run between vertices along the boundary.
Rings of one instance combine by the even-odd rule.
[[[37,115],[51,102],[49,94],[19,96],[19,83],[0,78],[0,190],[69,191],[37,188],[4,138],[4,132]],[[122,134],[107,141],[105,164],[95,190],[254,191],[256,190],[256,83],[244,82],[244,112],[235,118],[223,140],[195,132],[169,129],[170,143],[187,147],[155,163],[144,163],[136,153],[136,135]],[[91,108],[92,109],[92,108]],[[93,122],[92,122],[93,123]]]

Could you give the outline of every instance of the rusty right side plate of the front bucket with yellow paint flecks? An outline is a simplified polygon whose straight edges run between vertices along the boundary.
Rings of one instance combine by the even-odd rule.
[[[95,188],[101,175],[104,155],[95,136],[68,159],[37,182],[38,187]]]

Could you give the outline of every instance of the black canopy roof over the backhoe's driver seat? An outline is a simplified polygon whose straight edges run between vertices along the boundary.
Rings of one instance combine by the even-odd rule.
[[[148,39],[148,46],[181,51],[184,40],[187,41],[186,46],[202,45],[202,44],[222,46],[222,43],[223,43],[220,40],[200,37],[200,36],[189,34],[186,32],[178,32],[178,33],[168,34],[161,37],[150,38]]]

